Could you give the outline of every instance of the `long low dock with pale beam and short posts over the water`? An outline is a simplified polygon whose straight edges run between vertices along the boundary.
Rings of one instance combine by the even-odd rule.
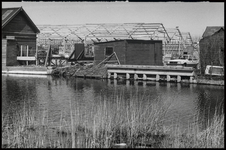
[[[141,65],[107,65],[108,78],[125,78],[127,80],[154,80],[197,83],[192,67],[183,66],[141,66]]]

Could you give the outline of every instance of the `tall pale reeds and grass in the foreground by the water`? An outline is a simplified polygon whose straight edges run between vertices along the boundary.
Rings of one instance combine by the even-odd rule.
[[[37,112],[24,106],[21,112],[3,116],[2,147],[109,148],[116,143],[131,148],[224,147],[224,115],[215,114],[204,131],[194,123],[183,131],[177,125],[164,126],[169,107],[167,101],[150,102],[149,96],[138,93],[125,100],[120,92],[84,106],[71,101],[68,113],[59,113],[60,121],[55,122],[48,109]]]

